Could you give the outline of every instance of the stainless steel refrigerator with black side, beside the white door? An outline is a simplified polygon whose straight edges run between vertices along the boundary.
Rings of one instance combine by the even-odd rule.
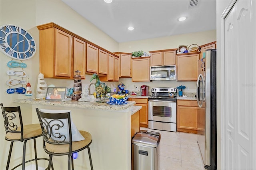
[[[196,98],[198,103],[198,146],[204,168],[217,169],[216,134],[216,49],[209,49],[198,61]]]

